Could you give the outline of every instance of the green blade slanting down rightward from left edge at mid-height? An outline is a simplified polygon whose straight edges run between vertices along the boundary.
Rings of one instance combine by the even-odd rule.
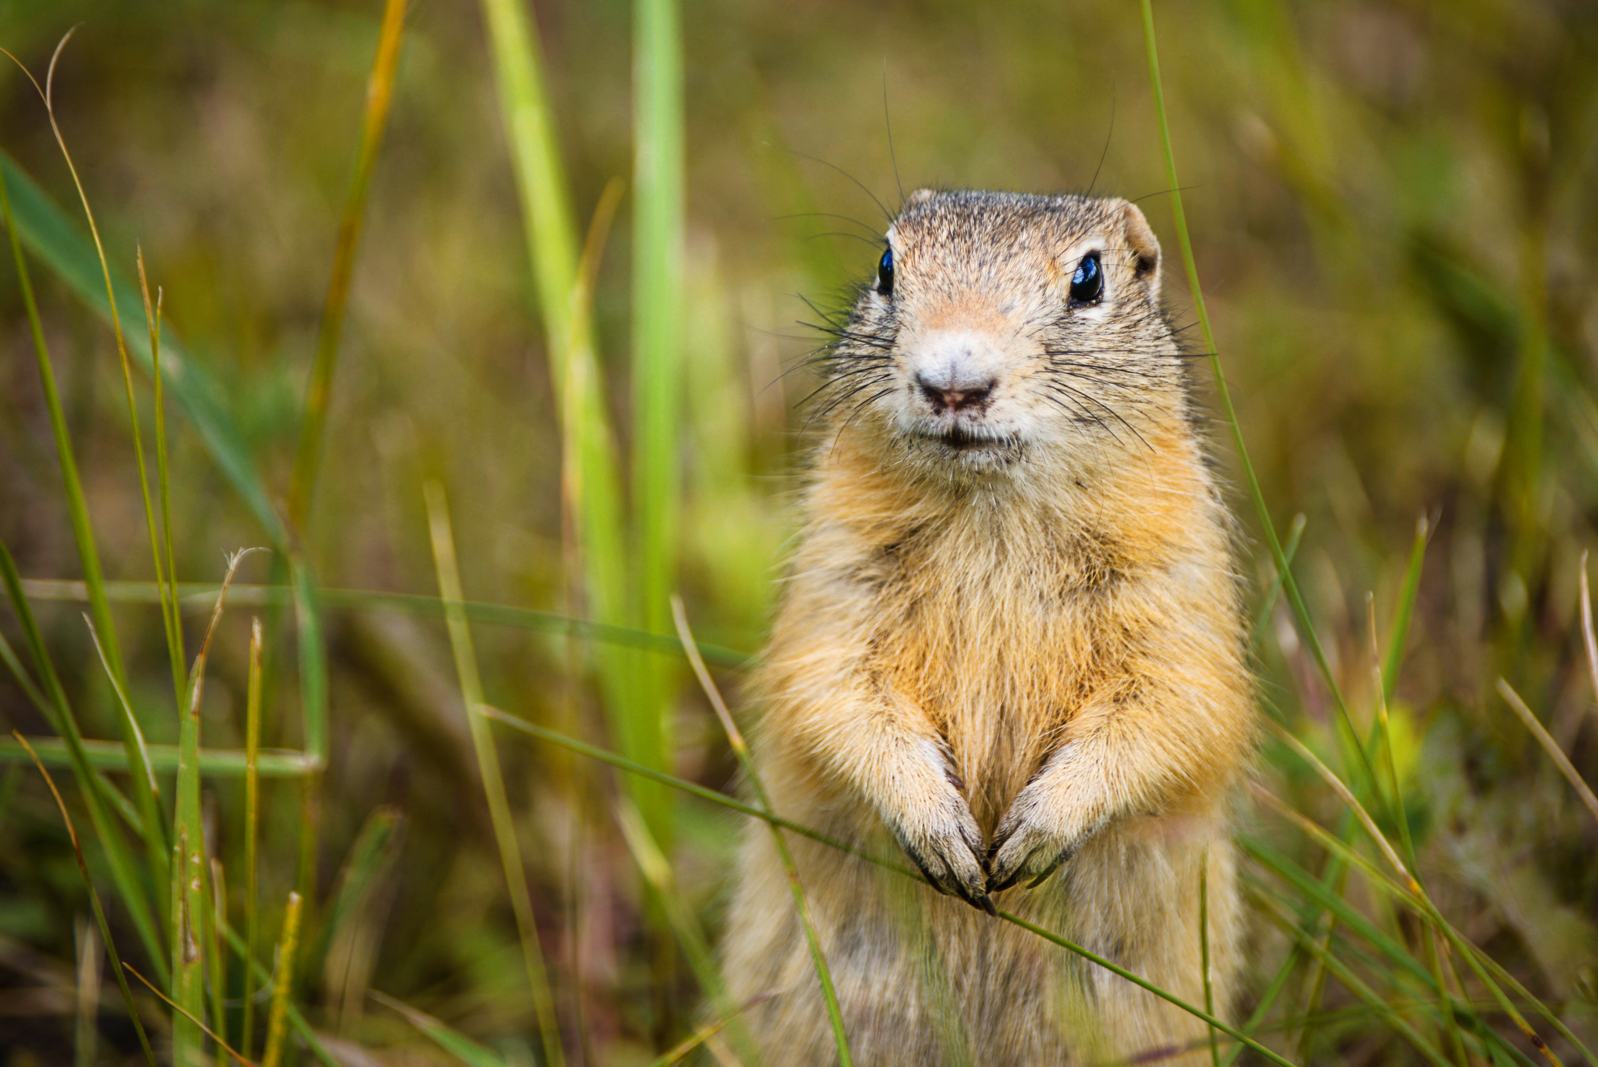
[[[11,610],[16,612],[16,618],[22,625],[22,637],[34,660],[34,669],[43,680],[45,693],[50,696],[46,720],[61,735],[72,760],[72,773],[83,794],[83,805],[89,810],[89,823],[94,826],[94,834],[99,837],[101,848],[105,850],[112,882],[117,887],[118,896],[121,896],[123,907],[128,909],[128,917],[134,930],[139,933],[144,950],[157,962],[155,966],[165,976],[166,965],[161,960],[161,938],[157,933],[155,922],[150,918],[150,899],[145,894],[137,864],[128,851],[128,843],[121,839],[105,810],[107,797],[113,795],[115,789],[89,765],[88,752],[83,748],[83,735],[78,732],[70,704],[67,704],[67,693],[61,687],[61,677],[56,674],[50,652],[45,649],[45,639],[38,631],[38,621],[34,618],[34,609],[22,594],[22,578],[16,573],[16,561],[11,559],[11,551],[3,541],[0,541],[0,580],[5,581],[6,596],[11,599]],[[129,811],[128,815],[137,819],[136,813]]]

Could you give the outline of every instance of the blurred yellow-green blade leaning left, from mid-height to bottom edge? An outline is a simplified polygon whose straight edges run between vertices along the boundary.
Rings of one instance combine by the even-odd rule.
[[[505,869],[505,885],[510,890],[511,910],[521,934],[523,962],[527,966],[527,984],[532,990],[534,1014],[543,1038],[543,1054],[551,1067],[566,1062],[561,1035],[555,1024],[555,1002],[550,997],[548,971],[543,950],[539,946],[539,928],[532,917],[532,896],[527,891],[527,874],[521,863],[521,847],[516,843],[516,827],[511,821],[510,800],[505,795],[505,779],[500,775],[499,752],[487,719],[483,717],[483,680],[478,677],[476,652],[471,647],[471,629],[460,609],[460,570],[455,564],[455,537],[449,524],[449,505],[444,487],[438,482],[423,486],[427,497],[428,530],[433,540],[433,562],[438,570],[438,589],[444,599],[449,625],[449,644],[455,653],[455,672],[460,693],[467,704],[467,720],[471,725],[471,744],[478,756],[478,771],[483,791],[487,794],[489,818],[494,823],[494,840],[499,845],[500,864]]]

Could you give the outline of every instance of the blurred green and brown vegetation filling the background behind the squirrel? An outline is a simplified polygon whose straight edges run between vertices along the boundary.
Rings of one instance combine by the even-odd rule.
[[[548,85],[553,141],[503,121],[518,101],[505,77],[515,13],[537,29],[527,56],[543,64],[534,73]],[[1371,749],[1377,778],[1400,789],[1355,784],[1381,829],[1413,845],[1438,912],[1523,984],[1501,982],[1555,1053],[1593,1062],[1571,1035],[1598,1040],[1598,819],[1497,682],[1524,698],[1576,771],[1598,779],[1598,679],[1579,613],[1584,553],[1598,541],[1598,8],[1173,0],[1157,16],[1186,212],[1242,433],[1278,534],[1304,516],[1294,572],[1315,633],[1357,730],[1384,740]],[[705,0],[681,13],[681,56],[670,18],[671,5],[647,0],[638,11],[622,0],[411,6],[356,216],[364,228],[350,244],[348,305],[336,316],[315,492],[297,506],[307,382],[328,343],[384,5],[0,6],[0,46],[40,78],[61,35],[83,22],[56,70],[54,109],[110,270],[136,278],[142,248],[152,296],[163,294],[163,351],[217,385],[221,425],[262,487],[265,513],[168,390],[176,580],[214,589],[224,553],[275,549],[241,562],[244,585],[217,626],[200,698],[205,749],[246,746],[249,615],[264,621],[264,746],[315,752],[326,687],[326,768],[262,759],[249,883],[238,767],[185,776],[176,749],[160,748],[184,738],[97,267],[81,260],[89,273],[74,280],[30,244],[128,704],[155,746],[161,818],[176,795],[179,818],[203,827],[240,934],[259,901],[262,968],[275,965],[289,893],[304,894],[291,995],[339,1062],[642,1064],[705,1021],[713,965],[695,946],[714,934],[741,816],[623,789],[638,779],[489,730],[462,692],[479,684],[513,716],[733,789],[725,735],[673,653],[665,594],[681,591],[735,692],[737,653],[761,645],[793,534],[799,401],[813,387],[801,364],[820,343],[796,324],[815,321],[802,297],[836,305],[869,273],[885,225],[877,198],[892,208],[901,187],[924,184],[1141,198],[1165,240],[1167,300],[1192,321],[1130,5]],[[21,203],[18,182],[30,176],[93,256],[43,105],[19,70],[3,70],[11,198]],[[532,157],[518,157],[539,144],[564,184],[555,200],[539,200],[550,190],[529,184]],[[523,224],[539,217],[529,241]],[[145,324],[137,289],[126,296],[121,327],[137,364]],[[1202,347],[1195,329],[1187,335]],[[89,756],[126,767],[126,719],[83,626],[83,594],[50,581],[85,573],[10,256],[0,339],[0,541],[32,581],[62,698],[85,736],[112,741]],[[150,377],[134,371],[133,383],[153,481]],[[1306,633],[1267,597],[1275,572],[1227,434],[1216,425],[1211,436],[1237,486],[1250,602],[1267,609],[1261,701],[1352,776],[1360,760]],[[465,601],[531,610],[468,604],[452,644],[436,597],[443,583],[449,599],[455,561]],[[291,578],[417,597],[328,593],[318,610],[308,586],[297,605],[272,588]],[[192,656],[214,596],[200,585],[179,593]],[[602,639],[622,626],[665,637],[654,650],[636,636]],[[0,612],[0,636],[29,685],[45,685],[21,615]],[[1373,647],[1390,644],[1384,701]],[[8,732],[54,735],[48,703],[0,672]],[[502,775],[481,762],[481,732]],[[158,981],[173,960],[150,958],[134,930],[67,748],[42,752],[54,754],[109,930]],[[141,1062],[61,813],[16,746],[0,756],[0,1062]],[[109,778],[137,794],[125,771]],[[502,781],[508,824],[491,815],[486,779],[491,795]],[[1334,835],[1354,826],[1285,743],[1267,743],[1259,786]],[[189,811],[187,787],[200,787]],[[1251,807],[1259,922],[1240,1009],[1285,974],[1262,1040],[1294,1062],[1417,1062],[1397,1019],[1451,1062],[1485,1062],[1478,1032],[1454,1051],[1453,1027],[1425,1006],[1432,971],[1417,978],[1400,958],[1424,965],[1435,923],[1397,907],[1365,867],[1339,874],[1336,847],[1280,808]],[[105,818],[152,899],[165,899],[161,850],[145,861],[115,811]],[[1357,827],[1342,840],[1381,863]],[[521,863],[508,861],[516,851]],[[1325,875],[1350,910],[1326,923],[1314,891],[1274,863]],[[511,885],[526,879],[527,914],[507,872]],[[1309,952],[1278,971],[1291,946],[1270,918],[1282,909],[1325,938],[1336,966]],[[169,925],[160,906],[152,914]],[[237,957],[205,966],[227,979],[195,995],[237,1040],[243,968]],[[1502,1035],[1494,1062],[1534,1062],[1488,981],[1457,952],[1453,966],[1464,982],[1451,995],[1480,1002],[1481,1025]],[[539,973],[553,1045],[529,994]],[[1361,982],[1389,1014],[1355,992]],[[198,1041],[133,986],[160,1056],[174,1040]],[[1571,1035],[1539,1021],[1528,995],[1556,1008]],[[257,1002],[252,1056],[272,1014]],[[310,1062],[294,1033],[284,1046]]]

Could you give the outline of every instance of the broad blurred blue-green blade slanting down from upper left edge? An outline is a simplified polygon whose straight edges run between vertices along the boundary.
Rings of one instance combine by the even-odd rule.
[[[94,246],[5,150],[0,150],[0,173],[5,174],[11,196],[14,233],[22,244],[80,300],[96,313],[110,318],[112,303],[105,296]],[[117,270],[109,273],[118,315],[134,318],[141,307],[137,288]],[[128,351],[147,374],[155,372],[149,340],[134,334],[128,339]],[[249,458],[249,450],[238,436],[233,417],[222,401],[222,390],[209,372],[184,353],[171,335],[161,340],[161,379],[189,415],[190,425],[217,468],[232,482],[272,541],[281,545],[284,541],[283,524],[272,506],[272,497],[267,494],[254,462]]]

